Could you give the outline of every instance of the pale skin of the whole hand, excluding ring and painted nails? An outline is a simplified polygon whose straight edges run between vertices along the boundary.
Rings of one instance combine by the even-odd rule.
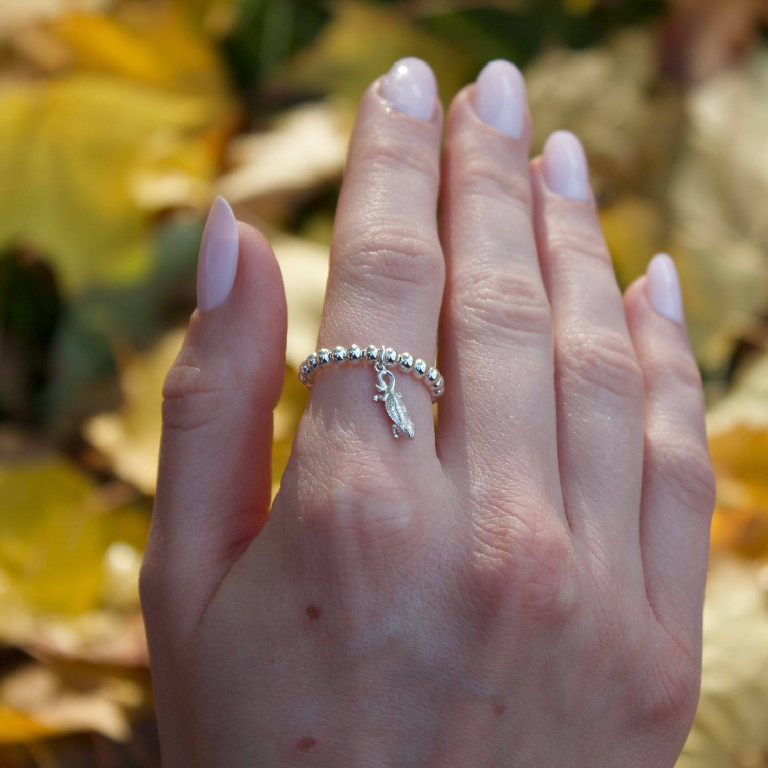
[[[141,574],[167,768],[680,753],[714,492],[686,329],[650,271],[621,295],[591,195],[558,192],[554,150],[529,161],[527,113],[519,136],[480,119],[477,88],[445,125],[366,91],[319,329],[439,347],[436,428],[409,376],[394,440],[369,366],[322,372],[270,512],[280,270],[240,224],[226,295],[199,283]]]

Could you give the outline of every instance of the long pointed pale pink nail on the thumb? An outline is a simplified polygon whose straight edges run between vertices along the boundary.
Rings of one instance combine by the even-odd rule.
[[[197,258],[197,309],[215,310],[230,295],[237,271],[237,220],[230,204],[217,197],[205,223]]]

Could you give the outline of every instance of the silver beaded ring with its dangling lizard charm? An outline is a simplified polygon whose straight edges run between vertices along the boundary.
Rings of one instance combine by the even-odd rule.
[[[395,374],[391,369],[398,369],[410,373],[416,379],[421,379],[429,389],[432,402],[445,392],[445,382],[439,370],[428,366],[422,359],[414,359],[407,352],[399,355],[391,346],[372,344],[363,349],[362,346],[353,344],[349,347],[337,346],[333,349],[323,348],[313,352],[299,366],[299,380],[306,389],[312,389],[315,376],[321,369],[340,368],[358,363],[371,364],[376,371],[378,394],[373,399],[384,404],[387,415],[392,419],[392,437],[397,439],[400,435],[404,435],[412,440],[413,422],[402,395],[395,391]]]

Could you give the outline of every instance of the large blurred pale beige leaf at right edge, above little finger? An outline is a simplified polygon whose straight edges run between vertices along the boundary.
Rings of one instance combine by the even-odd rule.
[[[675,253],[691,340],[711,372],[740,339],[760,337],[768,311],[768,55],[697,85],[689,127],[670,180]],[[728,135],[738,124],[739,140]]]

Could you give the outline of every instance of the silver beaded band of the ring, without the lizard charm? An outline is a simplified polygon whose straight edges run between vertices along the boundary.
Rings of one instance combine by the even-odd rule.
[[[378,369],[382,366],[384,369],[399,369],[408,373],[414,379],[420,379],[429,389],[429,397],[432,402],[439,399],[445,392],[445,381],[438,369],[429,366],[424,360],[415,358],[407,352],[398,354],[391,346],[359,346],[352,344],[348,347],[336,346],[333,349],[318,349],[313,352],[299,366],[299,380],[306,386],[306,389],[312,389],[315,377],[320,369],[339,368],[346,365],[355,365],[365,363],[374,365]]]

